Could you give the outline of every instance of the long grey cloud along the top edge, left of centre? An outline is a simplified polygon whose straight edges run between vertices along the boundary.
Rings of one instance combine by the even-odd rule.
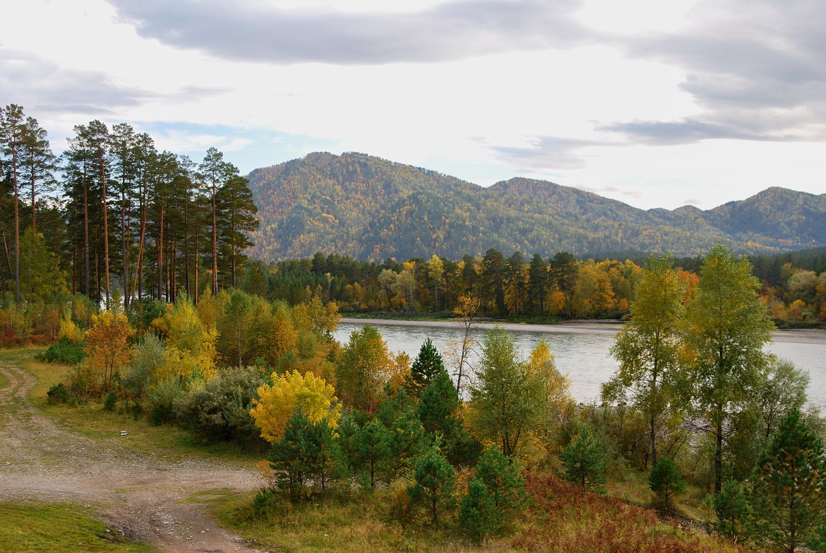
[[[419,12],[285,10],[263,2],[108,0],[148,39],[229,60],[388,64],[571,47],[579,0],[450,0]]]

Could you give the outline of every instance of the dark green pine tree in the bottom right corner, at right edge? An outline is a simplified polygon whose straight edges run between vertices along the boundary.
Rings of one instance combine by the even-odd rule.
[[[792,409],[752,476],[755,536],[795,553],[826,517],[826,453],[800,411]]]

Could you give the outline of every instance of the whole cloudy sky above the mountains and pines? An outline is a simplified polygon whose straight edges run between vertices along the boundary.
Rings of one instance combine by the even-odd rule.
[[[358,151],[635,207],[826,193],[822,0],[26,0],[0,104],[242,174]]]

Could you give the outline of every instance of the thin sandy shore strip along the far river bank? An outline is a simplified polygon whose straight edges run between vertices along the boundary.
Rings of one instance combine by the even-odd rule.
[[[430,328],[457,328],[453,321],[401,321],[396,319],[355,319],[342,317],[341,322],[352,324],[396,325],[399,327],[430,327]],[[477,327],[486,329],[493,327],[496,322],[478,322]],[[558,334],[614,334],[622,327],[619,321],[596,321],[590,319],[559,322],[553,325],[534,325],[518,322],[500,322],[507,331],[515,332],[544,332]],[[779,342],[793,342],[800,344],[826,344],[826,330],[818,328],[795,328],[774,332],[774,340]]]

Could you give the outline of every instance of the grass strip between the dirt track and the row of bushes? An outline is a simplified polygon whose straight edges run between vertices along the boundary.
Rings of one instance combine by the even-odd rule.
[[[155,427],[142,418],[135,420],[128,412],[119,412],[118,409],[115,412],[104,411],[102,402],[90,402],[79,406],[50,405],[46,399],[46,392],[54,384],[66,379],[71,367],[36,361],[33,356],[41,350],[42,348],[4,351],[0,353],[0,360],[16,361],[36,377],[37,384],[29,393],[29,400],[40,412],[61,423],[67,430],[93,438],[104,446],[128,445],[135,451],[158,455],[165,460],[207,456],[240,462],[254,470],[260,454],[242,451],[233,444],[204,444],[192,436],[192,433],[179,427]],[[125,430],[127,435],[120,436],[121,430]]]

